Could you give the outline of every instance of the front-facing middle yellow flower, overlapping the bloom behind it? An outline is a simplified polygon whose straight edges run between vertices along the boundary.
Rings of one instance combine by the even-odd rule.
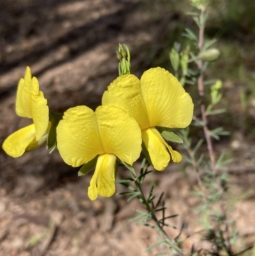
[[[57,148],[64,162],[78,167],[96,156],[96,170],[88,195],[111,197],[115,192],[115,162],[132,165],[140,156],[141,132],[133,117],[108,105],[94,112],[89,107],[68,109],[57,126]]]

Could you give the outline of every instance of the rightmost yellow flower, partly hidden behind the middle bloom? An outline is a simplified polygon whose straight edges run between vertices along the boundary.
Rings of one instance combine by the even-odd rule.
[[[177,163],[182,160],[156,129],[185,128],[193,117],[191,97],[171,73],[151,68],[141,80],[135,75],[118,77],[103,94],[102,105],[109,104],[135,117],[142,130],[143,146],[156,170],[164,170],[171,158]]]

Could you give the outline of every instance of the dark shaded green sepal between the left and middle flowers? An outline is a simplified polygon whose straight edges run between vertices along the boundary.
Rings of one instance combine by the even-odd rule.
[[[50,153],[57,147],[57,125],[61,121],[62,115],[49,114],[50,131],[47,137],[47,149],[50,149]]]

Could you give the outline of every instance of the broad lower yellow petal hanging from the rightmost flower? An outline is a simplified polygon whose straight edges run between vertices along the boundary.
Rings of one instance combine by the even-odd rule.
[[[171,159],[160,137],[161,134],[156,128],[142,130],[143,143],[150,154],[150,160],[156,170],[164,170]]]

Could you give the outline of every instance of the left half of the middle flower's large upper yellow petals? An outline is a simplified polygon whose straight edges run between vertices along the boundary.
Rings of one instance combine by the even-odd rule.
[[[103,154],[96,115],[92,109],[78,106],[68,109],[57,126],[57,148],[64,162],[78,167]]]

